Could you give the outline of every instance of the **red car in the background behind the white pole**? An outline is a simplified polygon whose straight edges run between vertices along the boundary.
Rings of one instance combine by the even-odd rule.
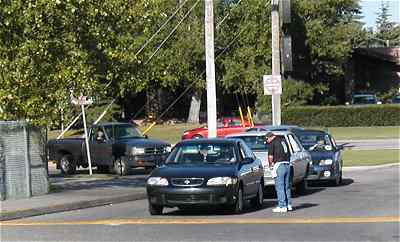
[[[217,124],[217,137],[225,137],[229,134],[244,132],[247,128],[252,127],[249,121],[242,125],[240,118],[223,118],[222,122]],[[201,139],[208,137],[208,129],[206,126],[186,130],[182,135],[182,140],[185,139]]]

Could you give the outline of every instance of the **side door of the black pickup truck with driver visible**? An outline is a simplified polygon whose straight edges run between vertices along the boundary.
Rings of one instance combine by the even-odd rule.
[[[106,130],[107,129],[107,130]],[[112,164],[112,144],[110,138],[112,127],[103,128],[102,126],[94,127],[90,132],[89,146],[90,158],[94,165],[111,165]],[[104,139],[98,139],[98,132],[103,132]]]

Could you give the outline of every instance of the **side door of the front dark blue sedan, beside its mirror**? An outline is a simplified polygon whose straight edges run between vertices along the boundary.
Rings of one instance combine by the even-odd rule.
[[[243,194],[249,196],[254,193],[254,175],[253,175],[253,162],[248,162],[248,154],[245,151],[245,144],[243,142],[238,143],[239,148],[239,162],[240,170],[239,176],[243,182]],[[246,159],[247,158],[247,159]],[[246,162],[247,161],[247,162]]]

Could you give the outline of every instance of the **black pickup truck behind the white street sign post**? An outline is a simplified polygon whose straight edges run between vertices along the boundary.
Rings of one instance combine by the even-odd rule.
[[[104,123],[89,130],[92,167],[101,172],[126,175],[131,167],[152,169],[162,163],[171,145],[149,139],[129,123]],[[78,166],[88,167],[84,138],[66,138],[48,142],[49,160],[64,174],[74,174]]]

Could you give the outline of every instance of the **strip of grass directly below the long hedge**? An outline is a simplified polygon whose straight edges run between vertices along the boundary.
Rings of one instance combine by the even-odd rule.
[[[330,127],[328,130],[336,140],[343,139],[383,139],[399,138],[399,126],[374,126],[374,127]]]

